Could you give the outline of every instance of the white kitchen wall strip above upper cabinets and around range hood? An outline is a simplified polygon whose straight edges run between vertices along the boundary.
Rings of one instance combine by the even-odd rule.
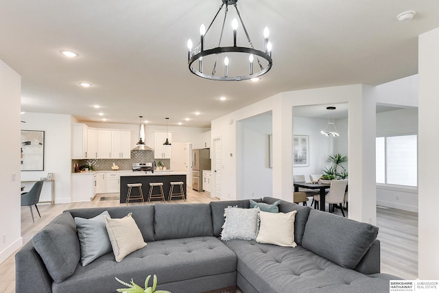
[[[139,120],[140,122],[140,120]],[[132,148],[139,141],[139,124],[114,124],[101,122],[79,122],[93,128],[114,128],[131,131]],[[168,126],[167,131],[171,133],[172,141],[180,143],[193,143],[193,148],[204,148],[202,143],[202,133],[209,131],[210,128]],[[145,124],[145,143],[154,148],[154,132],[166,132],[166,126]]]

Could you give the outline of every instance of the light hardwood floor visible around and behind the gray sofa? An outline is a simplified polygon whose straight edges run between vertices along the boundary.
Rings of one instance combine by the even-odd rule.
[[[102,196],[108,196],[102,195]],[[73,202],[71,204],[39,205],[41,218],[34,211],[35,223],[28,207],[21,207],[21,235],[23,243],[28,242],[43,226],[65,209],[84,207],[117,207],[119,200],[100,200],[95,197],[91,202]],[[187,201],[173,200],[178,203],[211,202],[218,200],[204,192],[187,189]],[[309,204],[311,201],[309,202]],[[130,203],[130,205],[141,203]],[[337,215],[342,215],[335,209]],[[378,238],[381,241],[381,272],[394,274],[403,279],[416,279],[418,275],[418,214],[396,209],[377,208]],[[15,292],[15,261],[11,255],[0,263],[0,292]]]

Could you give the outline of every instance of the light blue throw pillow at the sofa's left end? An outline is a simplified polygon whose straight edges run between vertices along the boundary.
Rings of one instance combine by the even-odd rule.
[[[98,257],[112,251],[106,228],[106,216],[110,218],[108,211],[91,219],[75,218],[80,239],[82,266],[86,266]]]

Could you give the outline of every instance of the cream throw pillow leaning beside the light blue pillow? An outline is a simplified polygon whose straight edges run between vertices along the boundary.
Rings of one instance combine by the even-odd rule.
[[[108,237],[116,261],[121,261],[123,257],[146,246],[142,233],[131,215],[132,213],[128,213],[121,219],[106,217]]]

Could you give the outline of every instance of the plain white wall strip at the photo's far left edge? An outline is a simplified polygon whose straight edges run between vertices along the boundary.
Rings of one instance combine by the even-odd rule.
[[[23,244],[20,207],[21,77],[0,60],[0,263]],[[15,177],[15,178],[14,178]]]

